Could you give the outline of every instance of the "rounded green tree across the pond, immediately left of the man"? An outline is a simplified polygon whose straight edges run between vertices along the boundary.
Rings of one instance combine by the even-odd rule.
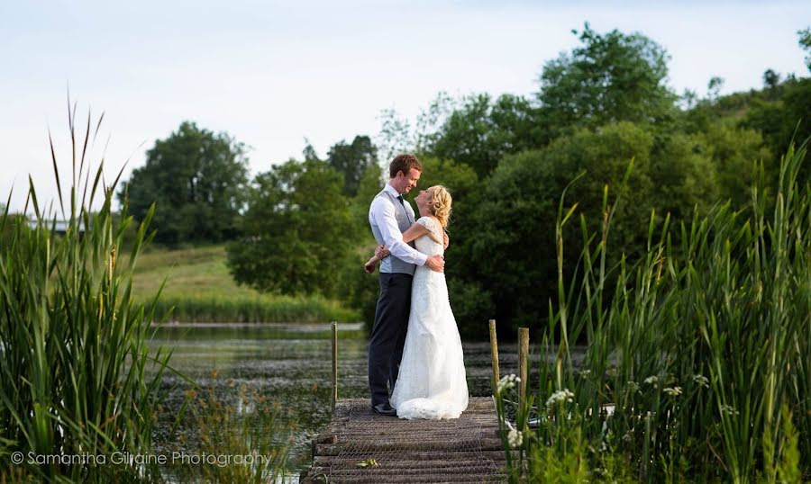
[[[332,296],[353,237],[342,184],[318,160],[257,175],[243,237],[228,246],[234,280],[258,291]]]

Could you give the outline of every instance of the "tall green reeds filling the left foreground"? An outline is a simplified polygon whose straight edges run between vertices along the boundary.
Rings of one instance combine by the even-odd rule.
[[[132,301],[132,272],[149,240],[152,212],[128,241],[132,255],[119,264],[132,218],[125,204],[121,223],[114,224],[118,178],[105,184],[102,159],[91,179],[86,164],[103,118],[94,128],[88,113],[86,129],[77,132],[76,104],[71,107],[68,100],[73,168],[67,200],[49,134],[59,215],[40,206],[29,178],[25,211],[32,209],[35,223],[29,227],[8,209],[0,219],[0,233],[6,235],[0,247],[0,480],[25,474],[36,480],[90,482],[157,476],[149,467],[89,458],[46,464],[29,459],[29,453],[146,453],[154,410],[163,397],[159,382],[169,354],[150,354],[147,347],[158,294],[148,304]],[[91,211],[97,197],[102,197],[101,208]],[[56,230],[58,220],[67,224],[64,234]],[[149,377],[150,365],[154,372]],[[21,464],[10,463],[13,452],[25,455]]]

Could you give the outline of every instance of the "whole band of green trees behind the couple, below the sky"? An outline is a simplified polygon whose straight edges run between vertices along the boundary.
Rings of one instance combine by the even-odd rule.
[[[615,200],[633,163],[608,237],[618,249],[609,252],[631,261],[651,224],[679,224],[721,202],[746,211],[753,162],[776,178],[791,140],[811,135],[807,76],[768,69],[761,89],[721,96],[715,77],[705,95],[677,94],[666,83],[670,57],[654,40],[588,23],[573,32],[579,45],[545,63],[534,94],[438,94],[414,127],[383,112],[376,139],[339,141],[325,157],[308,144],[301,159],[252,179],[240,142],[184,122],[150,148],[119,199],[136,219],[157,203],[159,243],[227,242],[237,282],[339,298],[370,321],[377,278],[361,269],[374,245],[369,202],[388,160],[414,152],[420,186],[444,184],[454,197],[446,273],[463,334],[481,336],[488,318],[532,325],[555,293],[565,189],[582,216],[564,233],[572,270],[583,229],[600,227],[604,197]],[[798,35],[811,70],[811,30]]]

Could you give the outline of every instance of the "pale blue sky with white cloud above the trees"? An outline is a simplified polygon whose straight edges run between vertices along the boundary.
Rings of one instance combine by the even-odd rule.
[[[760,88],[763,71],[808,76],[802,1],[30,0],[0,4],[0,203],[22,211],[32,176],[56,197],[71,173],[68,89],[84,130],[104,121],[88,161],[105,179],[142,166],[182,121],[250,147],[251,175],[324,156],[379,115],[414,121],[440,92],[531,95],[543,64],[578,45],[572,29],[641,32],[670,54],[668,84],[706,94]]]

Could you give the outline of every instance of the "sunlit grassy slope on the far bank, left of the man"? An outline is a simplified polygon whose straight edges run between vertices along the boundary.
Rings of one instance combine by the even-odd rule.
[[[357,321],[357,311],[319,296],[261,294],[233,281],[224,246],[169,250],[152,247],[139,257],[135,299],[149,300],[166,280],[159,314],[174,308],[171,320],[219,322]]]

